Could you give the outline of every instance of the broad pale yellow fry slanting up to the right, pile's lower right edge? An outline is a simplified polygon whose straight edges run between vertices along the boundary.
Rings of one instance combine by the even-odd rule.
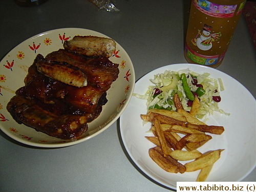
[[[185,164],[186,172],[194,172],[195,170],[202,169],[209,165],[214,164],[221,155],[223,150],[215,150],[204,153],[201,157],[197,158],[195,161]]]

